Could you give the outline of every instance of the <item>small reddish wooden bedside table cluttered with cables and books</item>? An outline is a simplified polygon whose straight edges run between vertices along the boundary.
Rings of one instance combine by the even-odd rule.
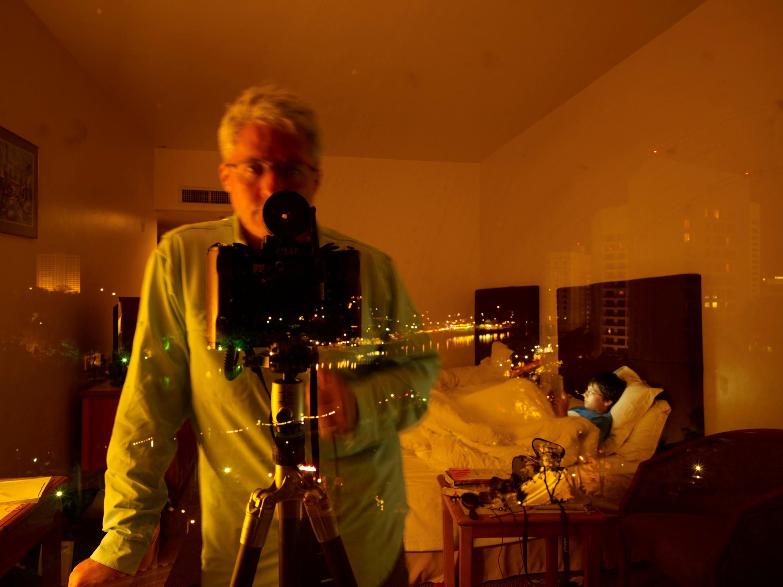
[[[441,488],[449,487],[446,478],[438,475]],[[459,501],[442,495],[443,504],[443,569],[444,585],[454,587],[454,525],[460,532],[460,587],[471,585],[473,538],[519,537],[522,535],[521,513],[516,520],[511,513],[479,515],[478,520],[464,512]],[[598,587],[601,577],[601,523],[607,520],[599,511],[567,512],[568,537],[585,538],[585,587]],[[557,585],[557,538],[562,534],[560,512],[528,512],[528,535],[547,538],[547,587]]]

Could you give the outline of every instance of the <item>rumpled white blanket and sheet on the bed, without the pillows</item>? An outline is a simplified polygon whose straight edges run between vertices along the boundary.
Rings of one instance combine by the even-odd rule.
[[[450,466],[500,468],[511,474],[511,459],[532,455],[532,439],[545,438],[565,448],[562,464],[568,467],[568,477],[574,475],[569,481],[601,497],[604,507],[616,508],[638,464],[619,456],[602,458],[597,452],[597,427],[583,418],[555,417],[547,398],[529,380],[438,387],[428,403],[428,412],[417,426],[400,434],[409,504],[406,552],[442,551],[437,477]],[[561,483],[557,496],[567,492],[568,484]],[[500,538],[481,538],[475,546],[500,542]]]

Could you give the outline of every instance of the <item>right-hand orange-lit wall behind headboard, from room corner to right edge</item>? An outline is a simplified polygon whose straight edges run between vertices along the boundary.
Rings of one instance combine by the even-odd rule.
[[[481,164],[482,286],[547,283],[577,242],[600,280],[610,232],[615,279],[704,275],[708,434],[783,427],[780,31],[780,2],[709,0]]]

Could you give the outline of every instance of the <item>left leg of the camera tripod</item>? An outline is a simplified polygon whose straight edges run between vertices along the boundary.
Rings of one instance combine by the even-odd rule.
[[[275,513],[275,501],[271,494],[256,489],[247,502],[242,534],[240,535],[240,551],[236,555],[234,572],[230,587],[251,587],[258,568],[261,550],[269,535],[269,525]]]

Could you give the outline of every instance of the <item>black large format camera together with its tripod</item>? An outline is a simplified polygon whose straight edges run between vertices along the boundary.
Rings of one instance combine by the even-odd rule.
[[[298,585],[300,507],[329,564],[334,584],[355,587],[337,514],[322,487],[319,469],[318,377],[309,379],[311,465],[305,463],[305,380],[316,366],[319,346],[349,343],[362,335],[359,251],[334,243],[320,246],[316,209],[295,192],[269,196],[262,211],[270,235],[262,248],[215,244],[207,252],[207,347],[225,348],[223,373],[239,375],[237,352],[269,394],[272,485],[256,489],[245,509],[240,550],[231,587],[252,585],[258,560],[277,510],[280,525],[280,585]],[[254,348],[265,348],[256,355]],[[282,375],[266,387],[262,368]],[[309,567],[312,565],[304,565]],[[310,584],[308,581],[307,584]]]

